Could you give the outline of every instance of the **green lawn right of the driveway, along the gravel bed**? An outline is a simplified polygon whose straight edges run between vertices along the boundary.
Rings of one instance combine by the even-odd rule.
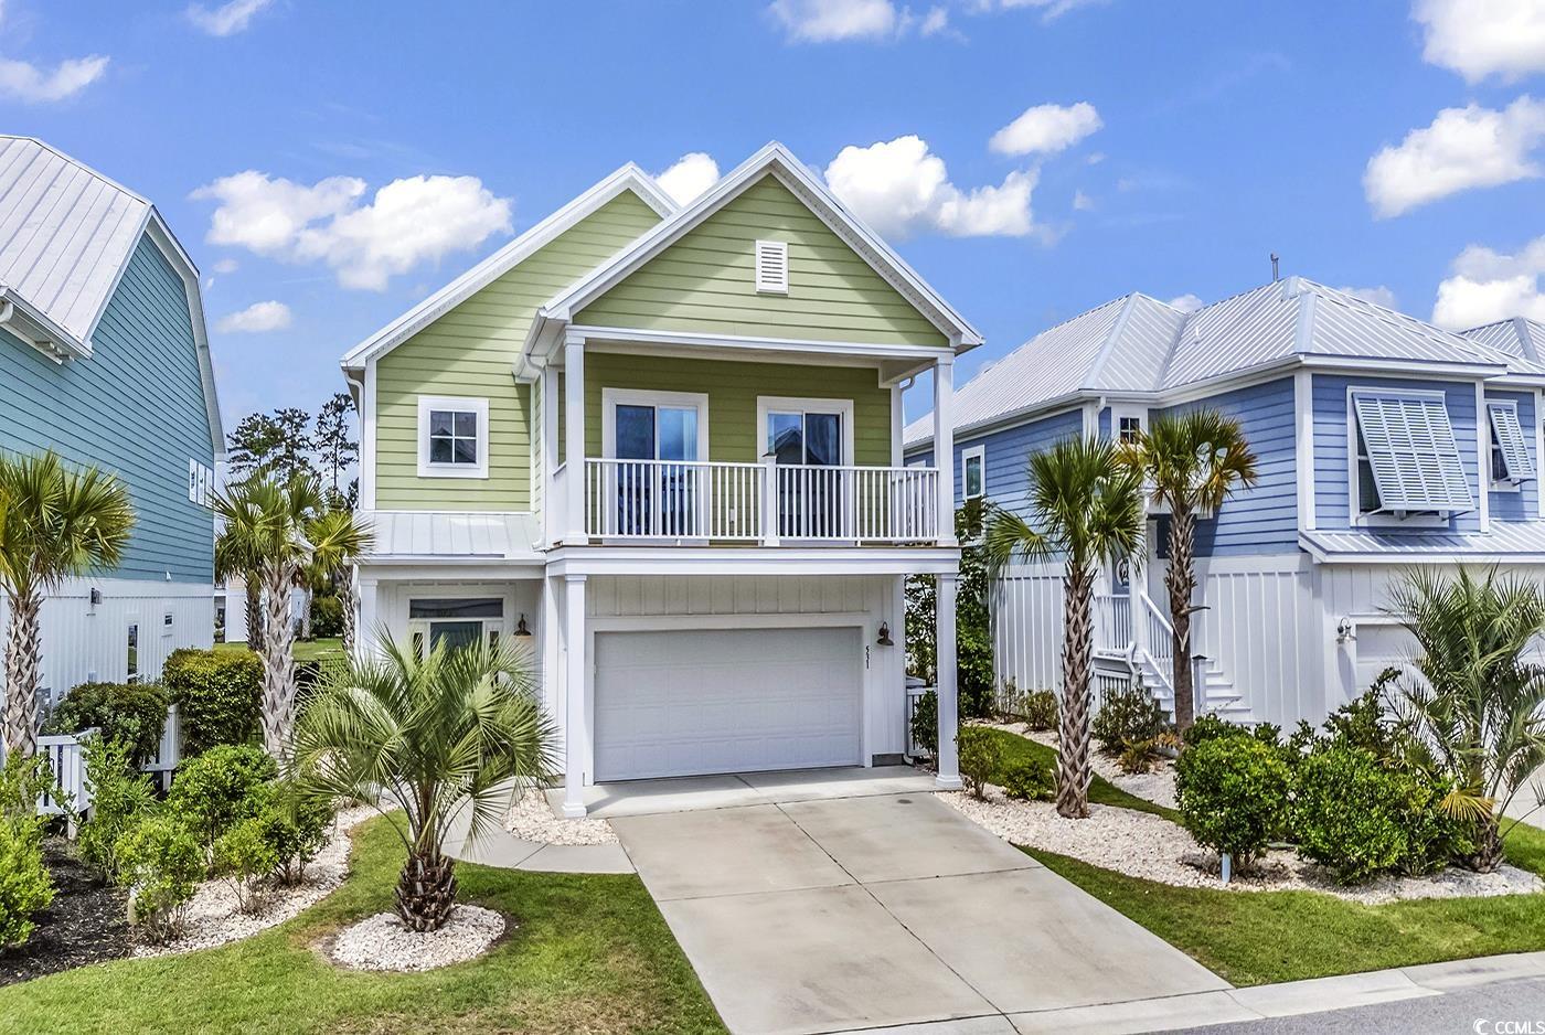
[[[1055,762],[1044,745],[995,732],[1006,762]],[[1100,777],[1089,800],[1179,819]],[[1545,874],[1545,831],[1520,825],[1506,850],[1513,865]],[[1049,851],[1021,851],[1238,986],[1545,950],[1545,893],[1358,905],[1318,891],[1176,888]]]

